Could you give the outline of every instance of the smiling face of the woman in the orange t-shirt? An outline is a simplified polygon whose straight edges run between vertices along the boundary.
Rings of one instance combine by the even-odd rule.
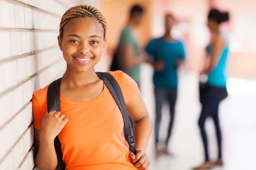
[[[78,17],[64,26],[58,43],[67,67],[84,72],[99,62],[106,39],[102,25],[95,18]]]

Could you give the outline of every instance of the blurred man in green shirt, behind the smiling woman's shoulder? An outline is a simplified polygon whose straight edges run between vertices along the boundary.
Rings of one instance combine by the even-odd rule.
[[[117,49],[120,68],[128,76],[140,84],[140,64],[145,61],[145,55],[140,51],[140,46],[134,35],[134,29],[140,25],[144,10],[140,6],[133,6],[130,12],[128,25],[123,29]]]

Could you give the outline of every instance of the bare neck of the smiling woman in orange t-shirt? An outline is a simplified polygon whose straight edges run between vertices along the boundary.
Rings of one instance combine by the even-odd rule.
[[[67,70],[61,81],[66,82],[70,87],[81,87],[95,82],[98,79],[99,77],[93,71],[93,68],[88,71],[81,72],[67,66]]]

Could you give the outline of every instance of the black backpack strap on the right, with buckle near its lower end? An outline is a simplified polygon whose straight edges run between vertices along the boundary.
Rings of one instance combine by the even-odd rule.
[[[135,148],[135,138],[132,133],[131,122],[129,119],[128,111],[125,105],[125,99],[122,94],[122,90],[118,85],[116,79],[109,73],[105,72],[96,72],[98,77],[103,80],[104,84],[107,86],[108,90],[110,91],[111,95],[116,101],[118,105],[123,119],[124,119],[124,133],[125,139],[129,144],[129,150],[136,155],[136,148]]]

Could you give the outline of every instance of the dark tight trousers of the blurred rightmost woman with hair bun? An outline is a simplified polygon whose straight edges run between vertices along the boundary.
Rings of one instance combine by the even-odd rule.
[[[227,88],[217,88],[210,85],[205,85],[203,89],[201,89],[201,104],[202,111],[198,121],[198,125],[200,127],[201,136],[204,143],[204,154],[205,161],[209,161],[209,153],[208,153],[208,143],[207,143],[207,135],[205,131],[205,120],[207,117],[212,117],[215,130],[218,139],[218,158],[221,158],[221,129],[219,125],[218,119],[218,107],[221,100],[227,97]]]

